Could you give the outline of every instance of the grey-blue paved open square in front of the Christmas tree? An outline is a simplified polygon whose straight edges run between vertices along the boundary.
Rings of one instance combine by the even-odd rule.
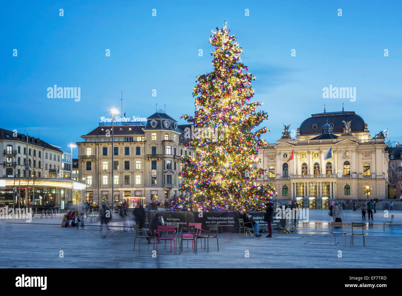
[[[383,230],[383,222],[394,217],[394,230]],[[367,216],[367,215],[366,215]],[[132,216],[128,216],[132,219]],[[374,221],[365,222],[366,247],[361,236],[355,236],[350,246],[350,222],[360,222],[361,212],[343,211],[346,246],[342,236],[332,236],[328,210],[310,211],[310,220],[299,223],[298,232],[279,234],[273,238],[244,237],[235,233],[219,233],[219,251],[216,240],[209,242],[209,253],[198,248],[197,255],[184,244],[184,253],[170,253],[170,245],[159,245],[158,256],[152,257],[153,245],[147,251],[142,240],[138,253],[138,241],[133,251],[133,230],[123,231],[123,222],[114,221],[106,238],[97,223],[87,223],[84,229],[60,228],[62,216],[34,217],[32,224],[25,220],[0,220],[1,268],[230,268],[230,267],[296,267],[296,268],[401,268],[398,253],[402,244],[402,212],[383,211],[374,214]],[[117,219],[115,219],[117,220]],[[89,220],[88,220],[89,222]],[[126,225],[132,224],[126,221]],[[64,257],[60,258],[60,251]],[[342,251],[341,253],[339,251]],[[249,257],[245,255],[249,254]],[[341,254],[341,257],[339,257]]]

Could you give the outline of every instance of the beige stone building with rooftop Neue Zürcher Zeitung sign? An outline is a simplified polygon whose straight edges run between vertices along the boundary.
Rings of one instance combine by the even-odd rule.
[[[112,197],[122,202],[129,197],[153,198],[179,195],[180,156],[192,155],[184,147],[193,127],[177,121],[159,110],[146,122],[100,124],[81,137],[78,145],[78,179],[85,178],[87,201],[99,204]],[[113,153],[113,163],[112,163]],[[114,170],[112,180],[112,168]],[[74,169],[73,169],[74,170]],[[73,172],[74,173],[74,172]]]

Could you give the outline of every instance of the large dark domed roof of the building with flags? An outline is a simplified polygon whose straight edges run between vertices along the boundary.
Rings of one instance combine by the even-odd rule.
[[[343,120],[346,122],[351,121],[352,133],[364,132],[365,122],[363,118],[354,111],[340,111],[311,114],[310,118],[307,118],[300,124],[300,136],[321,134],[322,129],[320,127],[324,128],[327,118],[329,124],[333,126],[332,132],[334,134],[341,134],[343,132],[343,128],[345,127],[345,124],[342,122]]]

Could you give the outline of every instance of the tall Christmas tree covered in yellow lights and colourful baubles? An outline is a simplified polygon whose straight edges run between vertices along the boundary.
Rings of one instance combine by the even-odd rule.
[[[211,73],[197,77],[194,87],[194,116],[183,115],[197,133],[187,143],[194,158],[182,157],[180,190],[189,193],[193,209],[233,211],[263,209],[264,199],[276,195],[275,188],[258,185],[266,171],[260,163],[258,146],[268,128],[256,128],[267,113],[256,112],[262,103],[248,103],[254,95],[250,87],[254,75],[240,61],[242,48],[230,30],[212,31],[209,43],[215,47]]]

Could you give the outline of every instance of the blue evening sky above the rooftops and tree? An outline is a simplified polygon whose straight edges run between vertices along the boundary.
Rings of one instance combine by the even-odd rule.
[[[3,2],[0,127],[39,134],[69,151],[67,145],[82,141],[112,107],[121,109],[121,90],[127,116],[147,117],[155,103],[158,109],[166,104],[176,119],[192,114],[195,78],[212,70],[209,35],[226,20],[243,47],[242,61],[256,76],[253,99],[264,102],[269,114],[269,143],[281,137],[282,123],[296,129],[310,114],[323,112],[324,104],[330,112],[342,103],[362,116],[371,137],[388,127],[389,139],[400,141],[401,3]],[[80,87],[81,100],[47,98],[53,85]],[[324,99],[322,88],[329,85],[356,87],[356,101]]]

